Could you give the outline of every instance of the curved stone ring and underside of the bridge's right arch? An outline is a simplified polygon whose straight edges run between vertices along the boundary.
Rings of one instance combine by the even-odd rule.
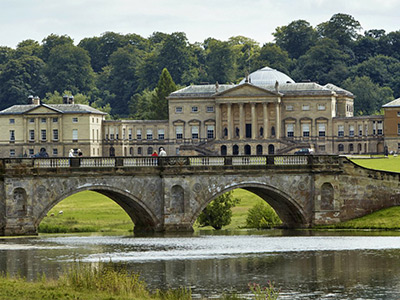
[[[212,200],[226,192],[239,188],[252,192],[263,199],[265,202],[267,202],[282,220],[284,227],[295,228],[306,227],[309,225],[305,212],[303,211],[301,206],[295,201],[295,199],[293,199],[290,195],[271,185],[254,182],[243,182],[240,184],[232,185],[213,194],[196,211],[193,219],[191,220],[191,225],[194,224],[201,212],[207,207],[208,204],[210,204]]]

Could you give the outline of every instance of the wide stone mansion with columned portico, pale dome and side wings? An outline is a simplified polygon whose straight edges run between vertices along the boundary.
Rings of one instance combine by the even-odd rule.
[[[70,149],[84,156],[364,154],[400,150],[400,98],[384,115],[353,115],[354,95],[333,84],[294,82],[265,67],[237,85],[190,85],[168,97],[168,120],[106,120],[106,114],[64,96],[63,104],[0,112],[0,156],[50,157]]]

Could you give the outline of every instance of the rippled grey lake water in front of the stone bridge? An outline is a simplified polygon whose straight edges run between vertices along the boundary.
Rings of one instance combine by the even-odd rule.
[[[280,299],[399,299],[397,236],[62,236],[0,241],[0,270],[32,279],[80,260],[121,263],[153,288],[248,293],[274,281]]]

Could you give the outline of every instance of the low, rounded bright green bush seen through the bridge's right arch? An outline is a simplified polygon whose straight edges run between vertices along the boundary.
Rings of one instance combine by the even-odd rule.
[[[248,228],[272,228],[282,224],[276,212],[264,202],[258,202],[249,209],[246,218]]]

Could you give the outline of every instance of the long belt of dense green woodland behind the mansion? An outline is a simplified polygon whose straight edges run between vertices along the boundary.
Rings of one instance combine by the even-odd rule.
[[[176,88],[238,83],[264,66],[353,92],[357,115],[380,113],[400,96],[400,31],[362,32],[354,17],[338,13],[315,27],[293,21],[273,36],[262,46],[244,36],[190,43],[183,32],[105,32],[77,45],[67,35],[24,40],[0,47],[0,109],[28,95],[57,103],[69,93],[113,118],[166,119],[165,96]]]

